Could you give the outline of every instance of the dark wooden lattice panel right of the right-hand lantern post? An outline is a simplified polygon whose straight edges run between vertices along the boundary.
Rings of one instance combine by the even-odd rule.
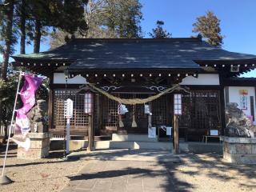
[[[209,130],[219,130],[219,91],[192,90],[190,94],[183,95],[180,127],[186,127],[184,137],[189,141],[200,141]]]

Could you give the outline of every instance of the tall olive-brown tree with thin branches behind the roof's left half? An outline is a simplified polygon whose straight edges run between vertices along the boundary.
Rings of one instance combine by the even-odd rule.
[[[76,38],[142,38],[142,5],[138,0],[88,0],[85,34],[75,32]],[[58,28],[51,34],[50,46],[65,43],[69,33]]]

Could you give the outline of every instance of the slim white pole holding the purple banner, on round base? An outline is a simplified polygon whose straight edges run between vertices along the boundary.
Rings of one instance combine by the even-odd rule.
[[[10,133],[11,133],[11,130],[12,130],[13,126],[14,126],[14,114],[15,114],[15,110],[16,110],[16,104],[17,104],[17,99],[18,99],[18,90],[19,90],[19,86],[21,84],[22,74],[23,73],[20,72],[19,77],[18,77],[18,87],[17,87],[16,97],[15,97],[15,102],[14,102],[14,110],[13,110],[13,114],[12,114],[12,117],[11,117],[10,128],[8,129],[9,133],[8,133],[8,139],[7,139],[7,145],[6,145],[6,154],[5,154],[5,158],[4,158],[3,166],[2,166],[2,178],[4,177],[5,169],[6,169],[6,158],[7,158],[7,153],[8,153],[8,149],[9,149],[9,143],[10,143]],[[0,182],[0,184],[2,184],[1,182]],[[8,183],[10,183],[10,182],[8,182]]]

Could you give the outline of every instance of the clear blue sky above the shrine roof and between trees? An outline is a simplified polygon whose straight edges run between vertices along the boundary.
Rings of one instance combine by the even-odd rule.
[[[157,20],[165,22],[165,28],[174,38],[190,37],[192,24],[198,16],[212,10],[221,20],[225,50],[256,54],[256,1],[255,0],[140,0],[142,3],[142,30],[145,37]],[[19,47],[16,47],[19,50]],[[43,42],[41,51],[49,49]],[[27,47],[26,53],[32,52]],[[18,53],[18,52],[17,52]],[[1,57],[1,56],[0,56]],[[0,58],[1,59],[1,58]],[[246,74],[255,77],[256,71]]]

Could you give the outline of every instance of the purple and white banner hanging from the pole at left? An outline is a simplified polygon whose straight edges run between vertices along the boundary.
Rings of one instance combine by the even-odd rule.
[[[25,82],[20,91],[23,106],[16,113],[15,133],[22,133],[24,136],[30,131],[30,120],[26,114],[35,104],[35,92],[41,86],[43,78],[34,77],[30,74],[24,75]]]

